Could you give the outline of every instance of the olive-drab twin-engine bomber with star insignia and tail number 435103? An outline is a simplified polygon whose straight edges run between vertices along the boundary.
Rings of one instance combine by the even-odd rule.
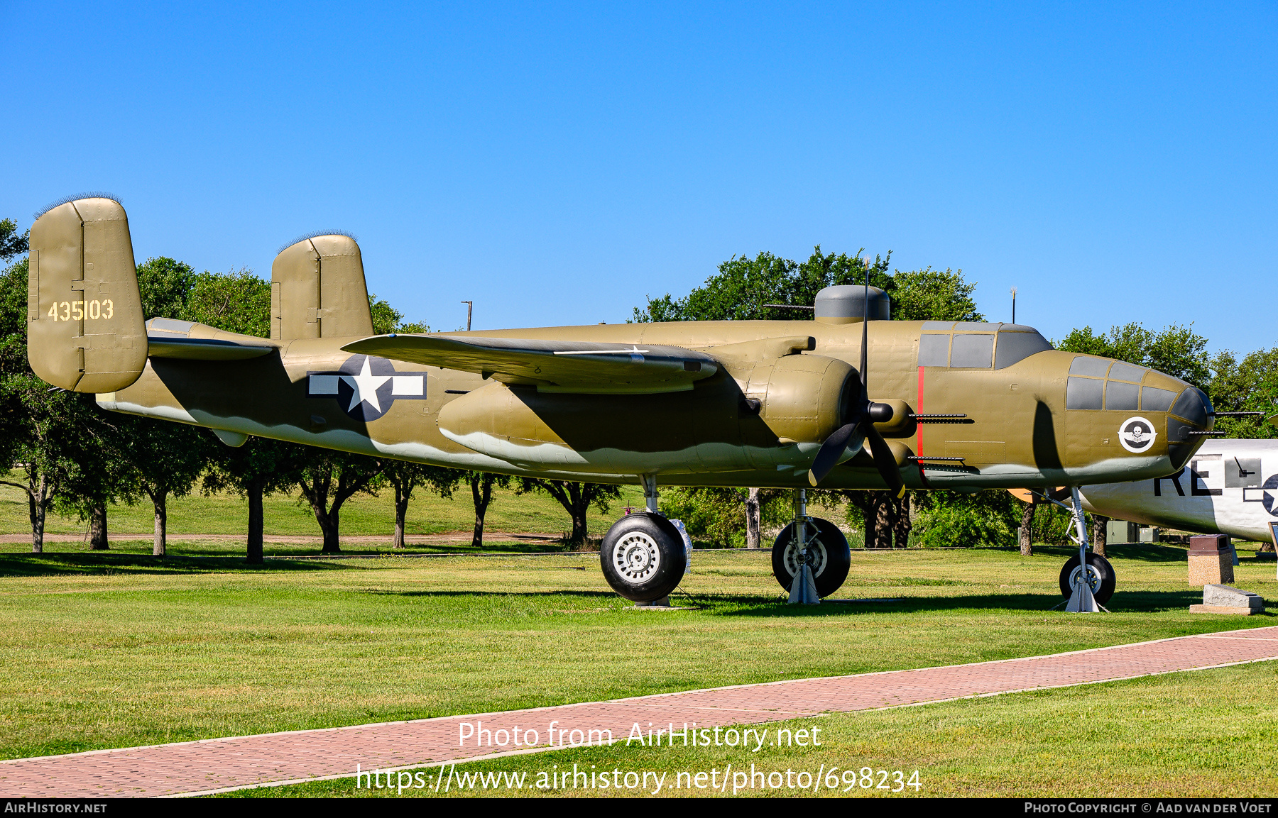
[[[458,468],[638,482],[608,530],[608,583],[636,601],[684,576],[658,480],[796,493],[778,582],[847,573],[804,490],[1079,486],[1183,468],[1212,406],[1176,378],[1056,351],[1031,327],[893,322],[869,287],[828,287],[813,320],[373,333],[355,241],[316,235],[271,267],[271,337],[143,323],[124,208],[81,198],[31,228],[32,369],[102,407]],[[854,365],[856,362],[858,365]],[[1090,556],[1089,556],[1090,559]],[[1097,558],[1102,559],[1103,558]],[[1081,561],[1080,561],[1081,564]]]

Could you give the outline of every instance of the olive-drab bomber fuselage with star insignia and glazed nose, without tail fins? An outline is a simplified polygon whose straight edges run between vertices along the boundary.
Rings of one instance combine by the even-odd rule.
[[[1080,356],[1049,348],[1013,360],[1017,343],[1045,347],[1034,347],[1029,333],[1042,342],[1030,328],[1007,324],[869,323],[868,392],[897,410],[879,428],[909,487],[1100,484],[1183,467],[1201,440],[1186,433],[1209,428],[1205,417],[1168,411],[1187,384],[1127,365],[1107,380],[1107,359],[1081,356],[1084,366],[1075,362]],[[456,468],[597,482],[658,475],[674,485],[806,487],[820,440],[804,435],[820,422],[820,410],[801,405],[799,387],[819,382],[822,361],[856,366],[861,327],[681,322],[447,334],[672,345],[709,355],[725,345],[790,336],[812,337],[815,347],[795,360],[717,356],[722,371],[684,392],[564,394],[341,351],[358,338],[307,338],[279,342],[277,352],[252,360],[152,356],[133,385],[97,399],[120,412]],[[944,357],[937,357],[942,348]],[[792,370],[785,378],[778,360]],[[1099,397],[1089,403],[1091,393]],[[1072,408],[1080,394],[1088,408]],[[905,419],[909,413],[966,417],[921,424]],[[929,457],[951,459],[923,459],[920,471],[915,458]],[[849,456],[822,482],[883,486],[865,453]]]

